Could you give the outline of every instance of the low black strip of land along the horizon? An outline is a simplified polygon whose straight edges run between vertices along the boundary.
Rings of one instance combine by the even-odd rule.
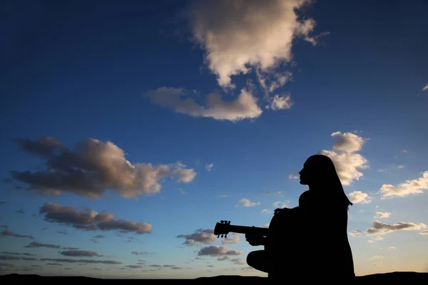
[[[250,284],[266,284],[266,277],[259,276],[239,276],[239,275],[220,275],[214,277],[199,277],[196,279],[98,279],[83,276],[40,276],[40,275],[21,275],[21,274],[6,274],[0,276],[1,284],[21,284],[21,282],[84,282],[91,281],[97,283],[98,281],[105,284],[121,282],[126,283],[141,283],[143,284],[161,284],[168,283],[185,283],[185,284],[243,284],[249,282]],[[7,282],[7,283],[6,283]],[[12,283],[13,282],[13,283]],[[141,283],[142,284],[142,283]],[[365,276],[357,276],[355,284],[428,284],[428,272],[390,272],[382,274],[371,274]]]

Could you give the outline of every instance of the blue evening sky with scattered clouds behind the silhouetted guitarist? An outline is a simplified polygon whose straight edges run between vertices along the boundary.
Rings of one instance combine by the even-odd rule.
[[[428,271],[427,1],[0,5],[0,274],[267,276],[215,223],[267,227],[317,153],[355,273]]]

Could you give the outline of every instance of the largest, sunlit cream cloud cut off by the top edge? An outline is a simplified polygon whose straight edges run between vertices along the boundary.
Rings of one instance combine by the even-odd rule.
[[[272,83],[267,88],[283,84],[285,75],[272,69],[292,61],[292,43],[297,37],[315,44],[310,36],[313,19],[299,19],[297,9],[308,0],[193,1],[190,20],[193,38],[204,50],[205,61],[218,76],[218,84],[234,87],[231,76],[248,73],[256,67],[258,73],[269,73]],[[262,84],[262,85],[263,85]]]

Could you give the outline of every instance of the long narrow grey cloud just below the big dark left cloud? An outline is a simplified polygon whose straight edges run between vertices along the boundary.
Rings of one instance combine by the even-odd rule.
[[[71,224],[78,229],[116,229],[123,233],[136,232],[137,234],[150,233],[152,230],[151,224],[126,221],[124,219],[115,220],[113,214],[106,212],[98,213],[87,208],[78,211],[73,206],[62,206],[51,202],[44,203],[40,213],[45,214],[45,219],[48,222]]]

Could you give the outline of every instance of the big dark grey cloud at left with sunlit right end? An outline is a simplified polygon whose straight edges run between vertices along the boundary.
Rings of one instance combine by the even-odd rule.
[[[191,182],[193,169],[181,162],[166,165],[131,164],[125,152],[113,142],[93,138],[81,140],[69,149],[56,138],[14,140],[21,150],[41,157],[46,168],[34,172],[12,171],[11,177],[27,189],[59,195],[62,191],[91,199],[112,190],[122,197],[153,195],[161,191],[161,180],[176,177],[178,182]]]

